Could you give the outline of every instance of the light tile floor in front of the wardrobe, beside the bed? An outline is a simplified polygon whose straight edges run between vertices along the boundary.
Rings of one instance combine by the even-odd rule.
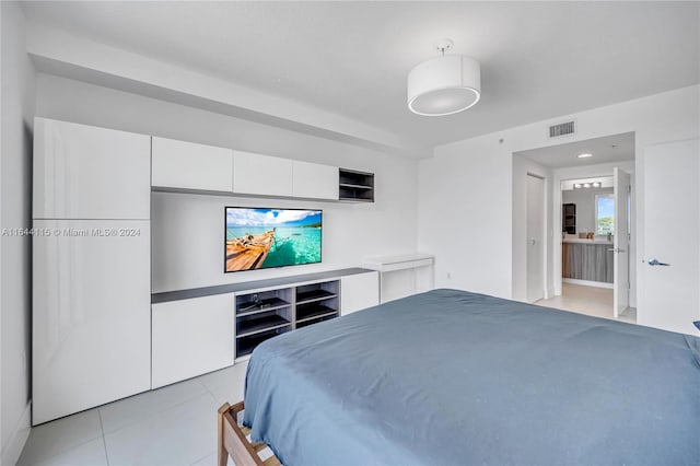
[[[18,466],[213,466],[217,410],[243,399],[246,366],[236,364],[38,426]]]

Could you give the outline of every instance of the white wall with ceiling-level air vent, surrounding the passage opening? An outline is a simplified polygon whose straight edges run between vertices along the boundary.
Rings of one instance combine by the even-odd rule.
[[[635,153],[641,153],[651,143],[697,137],[699,90],[679,89],[438,147],[418,170],[418,246],[435,255],[436,286],[514,295],[513,283],[523,280],[525,269],[513,254],[513,236],[521,234],[513,229],[513,152],[634,131]],[[576,135],[549,140],[547,127],[569,118],[578,121]],[[641,179],[639,159],[635,172]],[[643,196],[637,201],[641,224]],[[439,241],[447,235],[454,240]],[[638,251],[643,252],[641,231]]]

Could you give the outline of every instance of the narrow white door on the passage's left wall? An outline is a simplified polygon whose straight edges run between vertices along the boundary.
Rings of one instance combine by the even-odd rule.
[[[527,301],[544,298],[545,180],[527,175]]]

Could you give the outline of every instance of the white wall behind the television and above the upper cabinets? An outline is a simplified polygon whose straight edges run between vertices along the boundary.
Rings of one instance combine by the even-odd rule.
[[[366,256],[416,249],[415,161],[49,74],[38,74],[36,105],[43,117],[375,173],[370,205],[154,194],[156,292],[354,267]],[[224,206],[323,209],[323,264],[224,275]]]

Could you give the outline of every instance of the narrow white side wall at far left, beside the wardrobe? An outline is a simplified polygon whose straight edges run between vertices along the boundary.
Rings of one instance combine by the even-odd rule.
[[[2,22],[0,139],[2,229],[32,225],[32,124],[35,72],[25,53],[24,16],[16,2],[0,2]],[[14,464],[30,431],[31,237],[2,235],[0,342],[2,464]]]

